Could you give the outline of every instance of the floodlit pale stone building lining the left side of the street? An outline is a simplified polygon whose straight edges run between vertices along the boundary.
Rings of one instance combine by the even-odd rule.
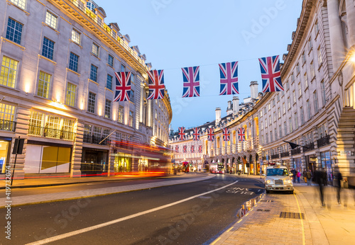
[[[170,98],[147,100],[151,64],[94,1],[0,3],[0,171],[16,178],[111,175],[168,163]],[[131,72],[115,102],[114,72]],[[13,153],[15,139],[23,151]]]

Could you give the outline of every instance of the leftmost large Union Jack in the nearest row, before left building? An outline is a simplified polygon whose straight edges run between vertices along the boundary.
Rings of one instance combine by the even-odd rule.
[[[131,95],[131,72],[115,72],[116,94],[114,101],[129,101]]]

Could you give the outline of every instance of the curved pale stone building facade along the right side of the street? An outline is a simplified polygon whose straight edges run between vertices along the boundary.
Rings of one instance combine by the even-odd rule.
[[[216,141],[202,133],[202,162],[253,174],[283,162],[298,171],[324,169],[329,181],[336,171],[355,177],[355,2],[304,0],[292,39],[281,66],[285,91],[263,94],[246,110],[227,110],[221,121],[217,112],[210,125]],[[222,141],[224,127],[230,142]],[[243,144],[235,135],[240,127]]]

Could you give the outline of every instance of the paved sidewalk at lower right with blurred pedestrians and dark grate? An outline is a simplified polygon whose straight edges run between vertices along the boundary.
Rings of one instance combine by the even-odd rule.
[[[256,178],[260,176],[243,176]],[[244,217],[212,244],[354,244],[354,193],[342,189],[338,205],[332,186],[324,188],[325,207],[317,186],[295,183],[295,194],[263,194]]]

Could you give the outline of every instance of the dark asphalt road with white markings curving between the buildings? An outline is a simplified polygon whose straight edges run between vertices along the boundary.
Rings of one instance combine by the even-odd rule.
[[[12,207],[11,242],[3,239],[4,232],[0,241],[47,243],[44,239],[59,236],[50,244],[209,244],[236,222],[241,204],[261,193],[263,184],[256,180],[217,175],[175,186]],[[6,225],[5,216],[6,209],[1,209],[1,224]]]

